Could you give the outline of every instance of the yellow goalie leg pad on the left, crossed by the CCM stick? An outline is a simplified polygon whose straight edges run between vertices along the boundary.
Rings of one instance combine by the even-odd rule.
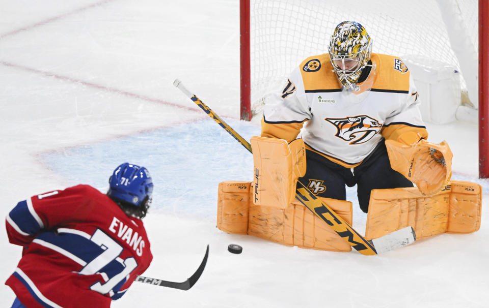
[[[248,193],[248,196],[247,196]],[[351,246],[300,202],[286,208],[255,205],[251,182],[219,184],[218,228],[227,233],[250,234],[285,245],[349,252]],[[348,224],[352,221],[349,201],[323,198]]]

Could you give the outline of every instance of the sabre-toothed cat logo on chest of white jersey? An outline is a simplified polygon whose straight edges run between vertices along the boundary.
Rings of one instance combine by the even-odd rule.
[[[345,141],[350,141],[349,144],[367,142],[382,128],[382,124],[368,115],[325,118],[325,120],[336,126],[337,132],[335,136]]]

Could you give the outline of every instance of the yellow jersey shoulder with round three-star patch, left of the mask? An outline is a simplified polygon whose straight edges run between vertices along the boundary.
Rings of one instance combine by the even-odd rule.
[[[306,92],[341,89],[327,53],[306,58],[299,69]]]

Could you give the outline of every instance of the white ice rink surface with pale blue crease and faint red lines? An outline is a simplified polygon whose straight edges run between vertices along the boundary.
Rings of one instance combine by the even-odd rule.
[[[87,183],[104,191],[125,161],[155,180],[145,218],[154,261],[146,276],[189,291],[134,283],[114,307],[484,307],[489,302],[489,182],[479,180],[476,123],[427,124],[454,153],[453,178],[484,189],[482,224],[384,255],[304,250],[215,227],[217,186],[251,180],[252,156],[172,82],[179,78],[249,140],[239,118],[238,2],[0,1],[2,213],[20,200]],[[358,209],[354,227],[364,233]],[[240,255],[227,246],[243,247]],[[2,277],[21,249],[0,236]],[[8,306],[10,288],[0,288]]]

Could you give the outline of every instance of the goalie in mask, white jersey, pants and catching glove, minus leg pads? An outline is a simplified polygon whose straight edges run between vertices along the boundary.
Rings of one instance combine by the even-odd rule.
[[[266,98],[261,132],[289,143],[302,138],[307,169],[301,182],[317,196],[339,200],[346,198],[345,186],[357,185],[364,212],[372,189],[414,182],[432,195],[451,175],[448,145],[425,144],[410,71],[399,57],[371,49],[360,23],[338,24],[328,53],[305,59],[283,91]]]

